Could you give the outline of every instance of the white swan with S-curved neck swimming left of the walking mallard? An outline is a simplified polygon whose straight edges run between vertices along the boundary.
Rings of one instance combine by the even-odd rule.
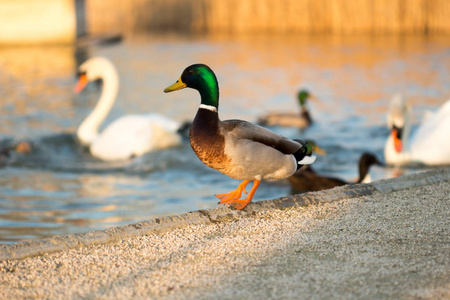
[[[181,143],[181,136],[177,133],[180,124],[157,114],[123,116],[99,133],[99,126],[116,99],[119,87],[117,71],[103,57],[87,60],[79,71],[81,75],[75,92],[81,92],[89,81],[103,80],[99,101],[77,130],[78,140],[89,147],[93,156],[107,161],[125,160]]]

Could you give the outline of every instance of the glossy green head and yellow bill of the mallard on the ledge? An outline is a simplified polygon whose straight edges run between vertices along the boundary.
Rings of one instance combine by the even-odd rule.
[[[189,87],[199,91],[202,104],[218,107],[219,84],[214,72],[207,65],[195,64],[184,69],[174,84],[167,87],[164,92],[173,92]]]

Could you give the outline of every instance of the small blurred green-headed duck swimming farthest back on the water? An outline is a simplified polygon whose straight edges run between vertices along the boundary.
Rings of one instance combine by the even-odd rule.
[[[307,90],[300,90],[297,94],[300,113],[271,113],[260,117],[258,124],[263,126],[297,127],[300,129],[309,127],[312,119],[306,107],[306,101],[311,97],[312,95]]]

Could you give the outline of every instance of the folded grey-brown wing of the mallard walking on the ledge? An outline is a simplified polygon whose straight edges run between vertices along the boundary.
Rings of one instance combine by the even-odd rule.
[[[277,149],[283,154],[294,154],[303,145],[261,126],[242,120],[221,122],[224,135],[233,135],[236,139],[246,139]]]

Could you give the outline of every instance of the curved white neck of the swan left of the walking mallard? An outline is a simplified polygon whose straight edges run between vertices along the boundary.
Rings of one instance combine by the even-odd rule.
[[[77,130],[78,139],[85,146],[97,138],[98,128],[111,110],[119,89],[119,78],[115,71],[105,72],[101,79],[103,90],[100,99]]]

